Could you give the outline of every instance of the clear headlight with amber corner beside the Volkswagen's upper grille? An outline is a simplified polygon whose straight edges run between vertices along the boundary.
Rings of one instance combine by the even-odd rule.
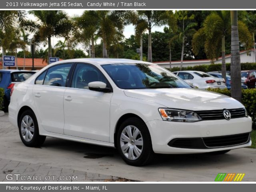
[[[200,116],[193,111],[168,108],[159,108],[158,110],[164,121],[197,122],[202,120]]]

